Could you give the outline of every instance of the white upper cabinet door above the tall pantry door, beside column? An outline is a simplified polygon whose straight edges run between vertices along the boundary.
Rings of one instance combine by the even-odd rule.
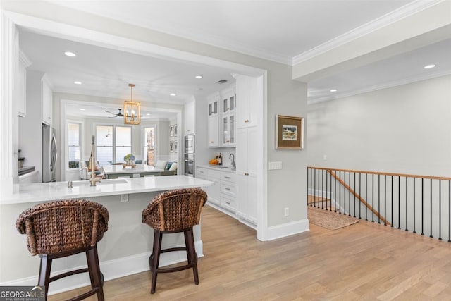
[[[249,128],[258,125],[257,106],[261,99],[262,88],[260,81],[246,75],[236,75],[236,103],[237,128]],[[261,106],[261,105],[260,105]]]

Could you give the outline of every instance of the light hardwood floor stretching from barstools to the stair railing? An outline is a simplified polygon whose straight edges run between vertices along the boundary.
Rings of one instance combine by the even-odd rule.
[[[451,300],[449,242],[367,221],[335,231],[311,224],[270,242],[256,236],[205,206],[199,285],[192,270],[160,274],[150,295],[145,272],[106,281],[106,300]]]

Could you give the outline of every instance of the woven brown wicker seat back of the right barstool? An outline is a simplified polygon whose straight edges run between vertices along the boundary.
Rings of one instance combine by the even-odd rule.
[[[199,223],[206,199],[206,192],[200,188],[162,192],[142,211],[142,222],[159,231],[190,228]]]

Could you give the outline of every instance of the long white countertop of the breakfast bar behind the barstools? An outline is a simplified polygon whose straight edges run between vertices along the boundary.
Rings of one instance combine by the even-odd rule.
[[[76,199],[102,197],[108,195],[128,195],[142,192],[158,192],[180,188],[204,187],[213,184],[208,180],[189,176],[159,176],[146,178],[119,178],[101,180],[96,186],[89,181],[73,181],[73,188],[68,182],[29,183],[20,185],[18,192],[12,195],[0,195],[0,204],[19,204],[45,202],[58,199]]]

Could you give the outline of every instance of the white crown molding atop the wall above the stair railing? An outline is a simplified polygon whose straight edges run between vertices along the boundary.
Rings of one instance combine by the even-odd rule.
[[[314,100],[311,100],[311,99],[309,99],[309,97],[307,97],[307,104],[318,104],[320,102],[328,102],[330,100],[342,99],[345,97],[352,97],[352,96],[358,95],[358,94],[364,94],[364,93],[373,92],[373,91],[377,91],[377,90],[388,89],[391,87],[407,85],[407,84],[411,84],[413,82],[421,82],[423,80],[431,80],[433,78],[440,78],[442,76],[447,76],[447,75],[451,75],[451,70],[447,70],[447,71],[441,72],[441,73],[432,73],[429,75],[421,75],[421,76],[414,76],[411,78],[404,78],[402,80],[393,80],[390,82],[384,82],[380,85],[373,85],[371,87],[364,87],[362,89],[353,90],[351,92],[333,94],[333,96],[328,95],[328,96],[318,97]]]

